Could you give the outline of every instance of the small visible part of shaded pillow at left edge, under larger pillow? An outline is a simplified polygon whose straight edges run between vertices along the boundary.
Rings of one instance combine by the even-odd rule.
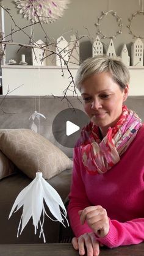
[[[0,151],[0,180],[16,173],[16,166]]]

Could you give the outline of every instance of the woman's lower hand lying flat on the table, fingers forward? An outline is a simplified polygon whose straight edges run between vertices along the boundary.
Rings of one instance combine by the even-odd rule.
[[[85,247],[87,248],[87,256],[99,255],[99,243],[96,241],[94,233],[85,233],[79,238],[74,237],[71,243],[75,250],[79,250],[79,255],[86,255]]]

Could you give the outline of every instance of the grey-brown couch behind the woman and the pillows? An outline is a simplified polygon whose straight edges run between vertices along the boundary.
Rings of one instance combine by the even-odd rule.
[[[81,101],[76,97],[68,97],[74,108],[83,110]],[[129,97],[126,101],[129,108],[134,109],[144,121],[144,96]],[[63,109],[68,108],[68,101],[54,97],[22,97],[0,96],[0,128],[30,128],[29,117],[35,108],[46,116],[41,119],[40,134],[59,147],[68,157],[73,157],[73,148],[63,147],[54,139],[52,134],[52,121]],[[81,118],[81,117],[80,117]],[[60,124],[59,124],[60,128]],[[1,143],[1,142],[0,142]],[[31,179],[17,169],[16,174],[0,180],[0,244],[14,243],[43,243],[43,238],[34,235],[32,220],[29,221],[23,233],[16,238],[17,228],[20,221],[21,210],[13,214],[8,221],[10,209],[18,193],[31,182]],[[48,181],[62,197],[67,200],[70,192],[71,170],[64,170],[61,174]],[[45,218],[44,232],[47,243],[68,241],[71,230],[63,228],[59,222],[53,222]]]

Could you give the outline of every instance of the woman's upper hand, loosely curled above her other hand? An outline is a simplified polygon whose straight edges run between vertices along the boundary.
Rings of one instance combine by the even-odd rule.
[[[109,232],[107,211],[100,205],[84,208],[79,211],[79,215],[81,224],[87,221],[88,226],[99,238],[103,238]]]

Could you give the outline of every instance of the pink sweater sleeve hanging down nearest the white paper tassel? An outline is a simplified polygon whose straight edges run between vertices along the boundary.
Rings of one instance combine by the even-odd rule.
[[[78,238],[84,233],[92,232],[87,223],[81,225],[78,211],[90,206],[87,199],[84,183],[81,177],[81,166],[79,164],[79,148],[74,148],[73,177],[71,183],[70,202],[68,205],[68,216],[74,235]]]

